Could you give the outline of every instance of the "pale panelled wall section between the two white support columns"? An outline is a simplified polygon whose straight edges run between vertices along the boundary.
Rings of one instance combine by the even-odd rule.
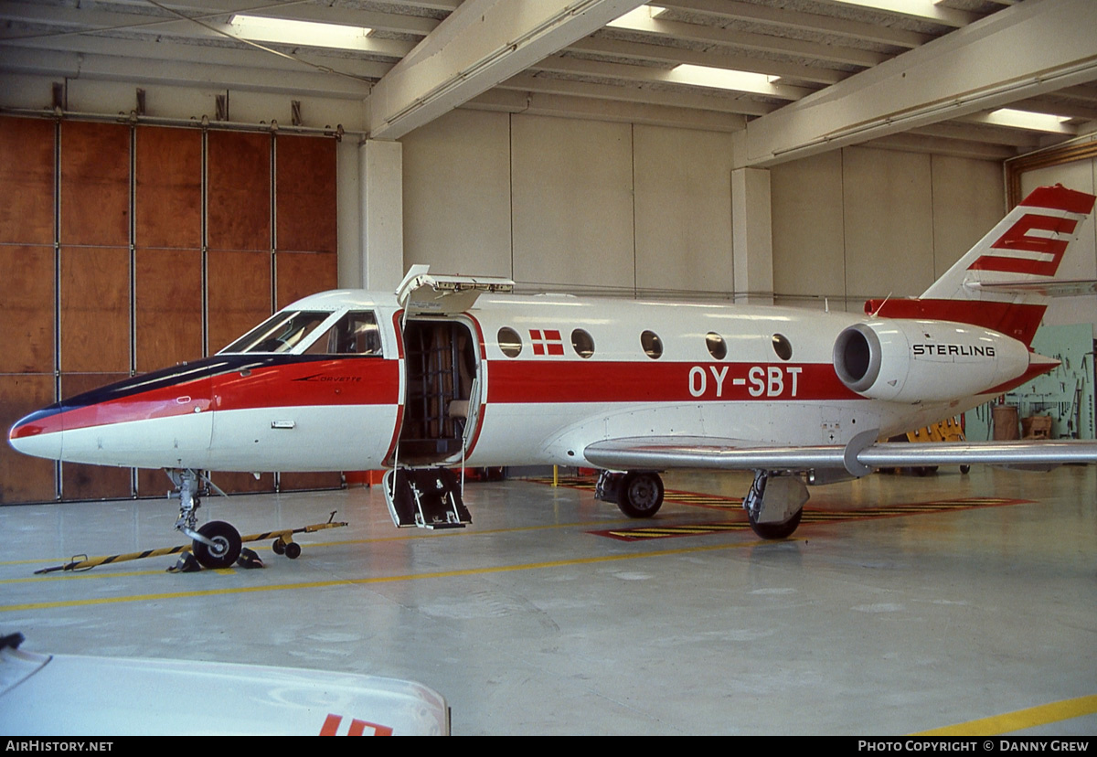
[[[525,289],[735,290],[731,134],[457,110],[402,143],[405,267]]]

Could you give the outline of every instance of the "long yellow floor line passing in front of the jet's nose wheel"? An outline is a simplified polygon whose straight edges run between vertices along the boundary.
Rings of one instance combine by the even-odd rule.
[[[795,539],[790,542],[800,541]],[[98,599],[69,599],[46,602],[25,602],[21,605],[0,605],[0,612],[26,611],[26,610],[48,610],[63,607],[83,607],[89,605],[116,605],[121,602],[142,602],[163,599],[184,599],[189,597],[213,597],[228,594],[253,594],[259,591],[284,591],[290,589],[321,589],[331,586],[367,586],[371,584],[391,584],[395,581],[423,580],[429,578],[454,578],[459,576],[480,576],[490,573],[511,573],[516,570],[539,570],[542,568],[567,567],[569,565],[593,565],[598,563],[611,563],[622,560],[642,560],[644,557],[666,557],[669,555],[681,555],[697,552],[714,552],[716,550],[737,550],[742,547],[758,546],[769,542],[750,541],[737,544],[711,544],[706,546],[691,546],[680,550],[658,550],[655,552],[640,552],[635,554],[604,555],[601,557],[579,557],[575,560],[557,560],[546,563],[525,563],[522,565],[497,565],[494,567],[466,568],[464,570],[439,570],[436,573],[418,573],[403,576],[377,576],[374,578],[343,578],[323,581],[303,581],[301,584],[279,584],[274,586],[238,586],[224,589],[205,589],[197,591],[166,591],[162,594],[134,595],[129,597],[102,597]],[[218,572],[219,573],[219,572]]]

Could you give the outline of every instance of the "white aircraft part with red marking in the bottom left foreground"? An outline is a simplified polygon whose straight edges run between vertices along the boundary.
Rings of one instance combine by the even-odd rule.
[[[411,681],[197,660],[44,655],[19,649],[21,641],[21,634],[0,639],[0,734],[7,738],[450,733],[445,700]]]

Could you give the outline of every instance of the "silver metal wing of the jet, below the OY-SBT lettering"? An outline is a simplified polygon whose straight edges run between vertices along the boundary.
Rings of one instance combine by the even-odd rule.
[[[973,463],[1053,467],[1097,463],[1097,441],[1093,440],[918,444],[877,442],[877,434],[875,430],[862,432],[845,447],[772,445],[711,437],[633,437],[595,442],[584,455],[593,465],[615,471],[845,468],[856,476],[878,467]]]

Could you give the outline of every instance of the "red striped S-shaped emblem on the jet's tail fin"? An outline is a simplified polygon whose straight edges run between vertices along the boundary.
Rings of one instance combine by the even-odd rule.
[[[1092,206],[1092,195],[1062,187],[1040,188],[1006,218],[1011,222],[1009,228],[989,246],[1000,252],[981,255],[968,269],[1055,275],[1067,244]]]

